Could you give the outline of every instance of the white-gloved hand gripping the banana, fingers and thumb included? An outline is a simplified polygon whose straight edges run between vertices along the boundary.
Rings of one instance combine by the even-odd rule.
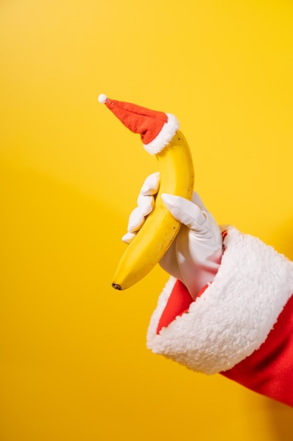
[[[142,227],[152,211],[158,190],[159,173],[152,173],[145,179],[138,195],[138,206],[129,216],[128,232],[122,237],[124,242],[130,243]],[[223,253],[221,231],[196,192],[192,201],[166,193],[162,194],[162,199],[182,225],[159,265],[181,280],[195,299],[202,288],[214,280],[219,269]]]

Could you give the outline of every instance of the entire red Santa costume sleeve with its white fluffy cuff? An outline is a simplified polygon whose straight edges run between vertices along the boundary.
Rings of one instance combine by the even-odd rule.
[[[223,243],[219,271],[195,301],[169,279],[150,320],[148,348],[293,406],[293,263],[235,228]]]

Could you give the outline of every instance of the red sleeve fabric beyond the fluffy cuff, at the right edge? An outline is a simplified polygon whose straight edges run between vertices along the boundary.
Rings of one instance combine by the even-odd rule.
[[[266,342],[222,375],[254,392],[293,406],[293,296]]]

